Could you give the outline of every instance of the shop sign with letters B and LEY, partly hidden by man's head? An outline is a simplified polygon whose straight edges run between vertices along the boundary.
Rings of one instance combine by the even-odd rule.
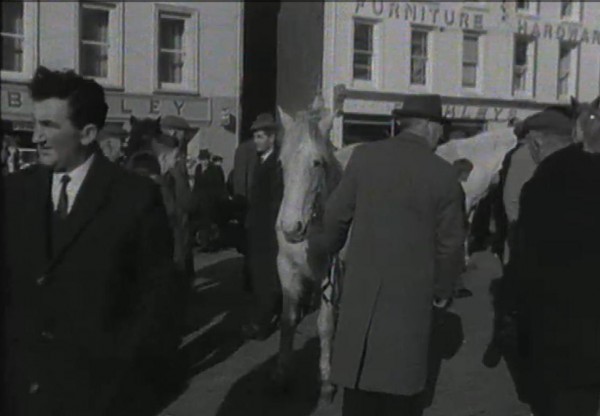
[[[30,117],[32,101],[25,90],[2,86],[2,115]],[[130,116],[158,117],[177,115],[189,123],[206,123],[211,120],[211,103],[208,98],[159,97],[108,93],[106,96],[109,119],[129,119]]]

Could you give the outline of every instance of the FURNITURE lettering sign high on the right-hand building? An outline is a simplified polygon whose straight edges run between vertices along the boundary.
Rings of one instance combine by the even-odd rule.
[[[371,0],[356,1],[355,13],[370,10],[377,17],[404,20],[436,27],[484,30],[484,14],[467,10],[442,9],[422,3]]]

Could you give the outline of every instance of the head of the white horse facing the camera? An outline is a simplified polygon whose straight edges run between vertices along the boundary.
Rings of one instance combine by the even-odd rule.
[[[310,222],[320,215],[341,173],[322,115],[314,106],[295,118],[279,109],[284,193],[278,227],[291,243],[305,239]]]

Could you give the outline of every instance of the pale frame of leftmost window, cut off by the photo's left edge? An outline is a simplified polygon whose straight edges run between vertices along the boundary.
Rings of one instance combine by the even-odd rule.
[[[39,2],[23,3],[23,66],[21,71],[0,69],[3,81],[28,82],[38,66]]]

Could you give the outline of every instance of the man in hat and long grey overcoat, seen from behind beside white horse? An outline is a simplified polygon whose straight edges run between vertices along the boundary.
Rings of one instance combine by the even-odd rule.
[[[355,150],[310,239],[333,254],[352,227],[331,374],[344,416],[421,414],[434,309],[464,262],[461,186],[434,154],[441,98],[408,96],[393,116],[400,133]]]

